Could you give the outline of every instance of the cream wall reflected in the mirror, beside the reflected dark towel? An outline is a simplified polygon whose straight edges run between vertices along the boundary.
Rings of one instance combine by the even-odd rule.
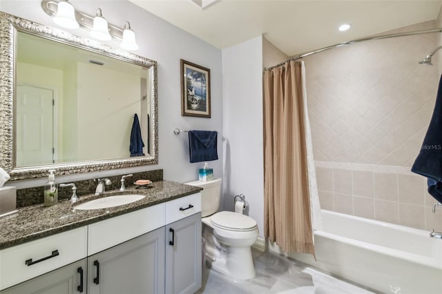
[[[133,115],[141,117],[140,77],[78,63],[77,82],[78,158],[130,157]],[[100,130],[113,135],[97,136]]]

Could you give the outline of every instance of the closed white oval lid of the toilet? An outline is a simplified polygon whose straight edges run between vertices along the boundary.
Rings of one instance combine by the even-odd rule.
[[[219,213],[215,213],[211,216],[210,222],[214,226],[226,228],[231,231],[250,231],[256,227],[255,219],[231,211],[220,211]]]

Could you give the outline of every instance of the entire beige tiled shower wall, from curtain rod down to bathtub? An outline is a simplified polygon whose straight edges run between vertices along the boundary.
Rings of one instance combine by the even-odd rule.
[[[386,33],[435,27],[436,21],[427,21]],[[439,84],[437,59],[435,66],[418,61],[436,46],[436,34],[426,34],[305,58],[322,208],[441,229],[442,210],[432,214],[434,199],[427,196],[425,179],[410,172]]]

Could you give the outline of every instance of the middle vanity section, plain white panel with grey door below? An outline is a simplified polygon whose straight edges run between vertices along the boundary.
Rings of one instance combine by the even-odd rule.
[[[88,226],[88,293],[164,293],[165,204]]]

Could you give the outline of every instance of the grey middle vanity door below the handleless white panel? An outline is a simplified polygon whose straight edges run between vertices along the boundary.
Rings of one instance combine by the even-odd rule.
[[[164,293],[164,227],[88,257],[88,294]]]

